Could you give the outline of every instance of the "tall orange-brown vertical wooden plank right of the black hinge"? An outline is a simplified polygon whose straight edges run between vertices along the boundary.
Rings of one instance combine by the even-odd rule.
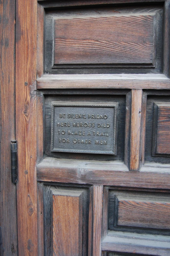
[[[19,255],[38,255],[37,229],[37,1],[16,5],[16,139]]]

